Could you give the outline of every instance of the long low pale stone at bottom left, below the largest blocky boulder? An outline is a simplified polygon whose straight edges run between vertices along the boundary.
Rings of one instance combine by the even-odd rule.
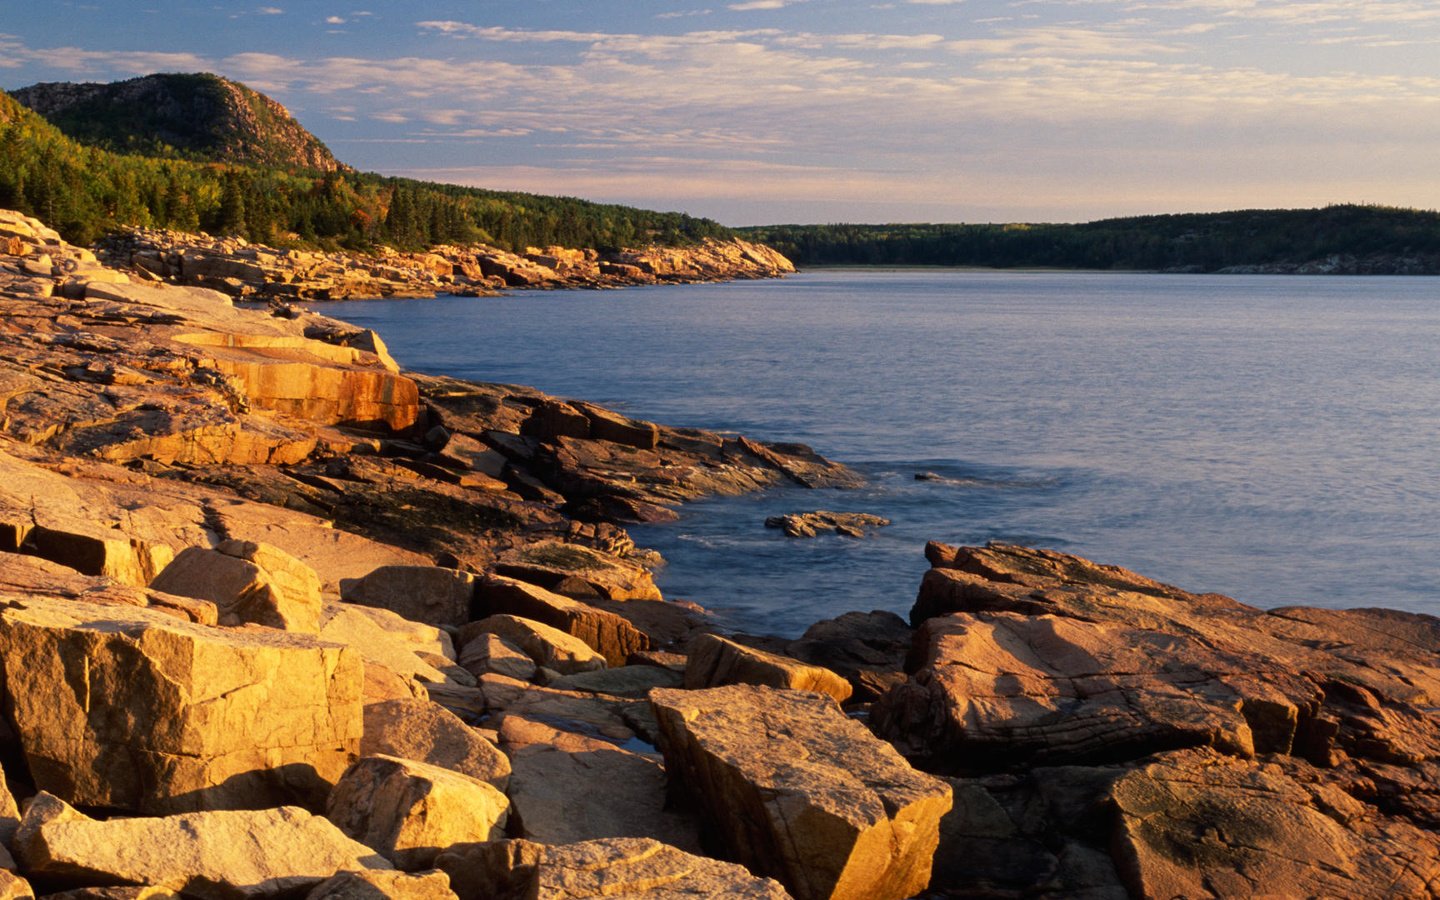
[[[26,806],[14,847],[32,877],[153,884],[203,900],[279,897],[340,870],[390,867],[295,806],[101,822],[40,793]]]

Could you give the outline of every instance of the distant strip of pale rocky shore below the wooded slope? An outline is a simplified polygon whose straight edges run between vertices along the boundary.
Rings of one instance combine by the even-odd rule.
[[[278,251],[243,238],[132,229],[99,245],[101,258],[140,279],[213,288],[240,300],[478,297],[507,288],[616,288],[795,272],[760,243],[704,238],[691,246],[600,252],[562,246],[511,253],[484,243],[423,253]]]

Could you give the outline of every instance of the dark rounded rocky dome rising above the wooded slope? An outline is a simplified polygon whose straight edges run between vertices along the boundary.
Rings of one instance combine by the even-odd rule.
[[[120,153],[314,171],[348,168],[285,107],[219,75],[46,82],[10,95],[76,141]]]

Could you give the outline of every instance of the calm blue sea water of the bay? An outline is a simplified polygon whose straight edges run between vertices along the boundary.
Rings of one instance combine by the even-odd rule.
[[[865,490],[634,528],[670,560],[667,596],[736,628],[903,615],[926,540],[1056,547],[1261,606],[1440,611],[1440,279],[822,271],[324,312],[420,372],[861,469]],[[896,524],[763,527],[814,508]]]

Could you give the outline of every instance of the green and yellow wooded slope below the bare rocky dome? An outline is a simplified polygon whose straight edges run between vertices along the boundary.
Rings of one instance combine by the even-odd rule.
[[[472,242],[513,251],[550,245],[618,249],[733,236],[716,222],[684,213],[348,168],[318,171],[300,158],[274,166],[223,157],[203,161],[176,158],[196,151],[167,153],[157,145],[144,148],[161,156],[117,153],[112,147],[131,147],[117,134],[95,138],[107,145],[82,144],[0,91],[0,209],[37,216],[72,243],[89,243],[124,226],[206,230],[271,246],[323,249]],[[134,147],[141,144],[137,140]],[[265,135],[259,144],[278,145]]]

